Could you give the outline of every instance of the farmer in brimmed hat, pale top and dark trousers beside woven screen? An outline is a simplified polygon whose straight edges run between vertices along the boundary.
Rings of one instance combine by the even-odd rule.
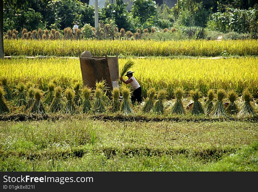
[[[133,88],[133,95],[131,96],[131,101],[134,104],[135,101],[138,101],[138,103],[142,102],[142,88],[140,84],[136,81],[136,79],[133,77],[132,71],[128,71],[125,76],[128,77],[128,79],[125,81],[123,77],[120,77],[120,79],[125,83],[125,84],[130,84],[130,86]]]

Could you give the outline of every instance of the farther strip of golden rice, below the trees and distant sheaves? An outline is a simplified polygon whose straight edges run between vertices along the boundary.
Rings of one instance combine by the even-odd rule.
[[[230,55],[258,55],[258,40],[4,40],[5,56],[55,55],[79,56],[88,50],[94,56],[218,56],[224,50]]]

